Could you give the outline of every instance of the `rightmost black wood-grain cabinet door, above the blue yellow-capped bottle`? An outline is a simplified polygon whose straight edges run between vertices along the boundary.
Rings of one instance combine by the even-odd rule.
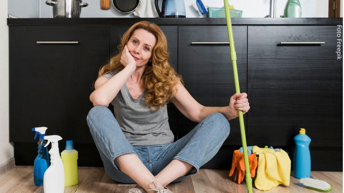
[[[250,145],[294,145],[305,128],[311,146],[342,146],[343,61],[335,53],[336,32],[337,26],[248,26]]]

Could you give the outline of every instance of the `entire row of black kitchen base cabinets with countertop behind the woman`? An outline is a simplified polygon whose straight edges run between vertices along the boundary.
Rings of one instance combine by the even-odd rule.
[[[9,130],[16,165],[33,165],[36,126],[61,135],[61,151],[73,139],[78,166],[103,165],[86,123],[92,83],[117,51],[120,36],[143,20],[165,33],[170,63],[190,94],[204,106],[228,105],[235,93],[229,46],[214,44],[228,42],[225,18],[8,19]],[[232,25],[240,92],[248,94],[251,107],[244,115],[247,145],[282,148],[293,160],[293,137],[305,128],[312,139],[311,170],[343,171],[343,66],[335,53],[342,18],[232,18]],[[280,44],[290,41],[325,44]],[[173,104],[168,113],[175,140],[197,124]],[[229,137],[202,168],[230,168],[241,137],[238,118],[229,123]]]

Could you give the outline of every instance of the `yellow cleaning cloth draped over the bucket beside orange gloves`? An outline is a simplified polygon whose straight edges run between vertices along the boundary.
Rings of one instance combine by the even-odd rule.
[[[279,184],[289,186],[291,161],[284,150],[275,152],[273,149],[252,147],[252,152],[259,155],[256,188],[271,190]]]

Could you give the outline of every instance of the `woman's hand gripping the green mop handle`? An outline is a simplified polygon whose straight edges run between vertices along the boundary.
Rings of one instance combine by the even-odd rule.
[[[233,117],[238,117],[238,110],[245,114],[250,109],[246,93],[236,93],[229,99],[229,110],[232,111]]]

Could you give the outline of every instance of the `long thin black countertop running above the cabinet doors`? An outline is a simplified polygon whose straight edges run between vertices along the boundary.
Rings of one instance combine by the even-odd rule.
[[[138,21],[158,25],[226,25],[225,18],[23,18],[7,19],[7,25],[132,25]],[[232,18],[232,25],[343,25],[340,18]]]

